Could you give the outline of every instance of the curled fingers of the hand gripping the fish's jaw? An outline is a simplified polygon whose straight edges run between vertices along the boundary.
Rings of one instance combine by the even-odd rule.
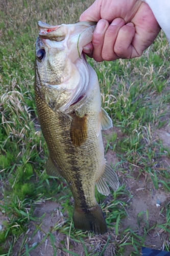
[[[93,33],[92,44],[86,45],[83,51],[98,62],[130,58],[132,51],[135,52],[131,45],[134,34],[133,23],[125,25],[124,19],[115,18],[109,25],[107,20],[101,19]]]

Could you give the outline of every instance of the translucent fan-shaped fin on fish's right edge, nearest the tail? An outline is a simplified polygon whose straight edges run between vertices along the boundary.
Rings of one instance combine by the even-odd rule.
[[[108,163],[106,163],[104,173],[101,175],[98,181],[96,181],[96,188],[98,189],[99,193],[108,196],[110,194],[110,189],[106,181],[114,191],[118,189],[119,182],[117,175]]]

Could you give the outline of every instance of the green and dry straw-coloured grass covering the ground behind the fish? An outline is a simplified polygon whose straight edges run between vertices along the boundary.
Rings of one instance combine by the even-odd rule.
[[[155,234],[163,241],[155,246],[169,250],[169,202],[161,204],[162,220],[153,222],[152,210],[146,209],[133,214],[136,227],[126,226],[135,191],[141,191],[143,200],[144,191],[152,193],[161,186],[167,197],[170,191],[169,167],[162,164],[169,160],[169,148],[157,136],[157,130],[169,123],[170,52],[162,32],[140,58],[102,63],[88,59],[99,77],[102,105],[114,124],[114,132],[105,134],[105,152],[117,158],[120,187],[108,198],[96,191],[109,233],[94,236],[75,230],[70,191],[63,180],[45,173],[47,147],[33,90],[37,21],[76,23],[91,3],[0,3],[0,255],[34,255],[34,250],[44,248],[54,255],[140,255],[141,246]],[[144,189],[129,188],[129,183],[139,185],[142,179]],[[37,216],[35,211],[49,201],[58,206],[48,217],[56,223],[46,230],[43,220],[49,212]]]

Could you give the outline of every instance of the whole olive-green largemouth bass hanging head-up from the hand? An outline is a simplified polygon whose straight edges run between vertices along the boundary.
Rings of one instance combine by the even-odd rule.
[[[38,22],[34,89],[49,152],[46,173],[66,180],[75,202],[74,227],[104,234],[108,229],[95,186],[107,196],[108,184],[115,191],[119,182],[104,157],[101,132],[112,120],[101,107],[98,76],[83,53],[95,25]]]

